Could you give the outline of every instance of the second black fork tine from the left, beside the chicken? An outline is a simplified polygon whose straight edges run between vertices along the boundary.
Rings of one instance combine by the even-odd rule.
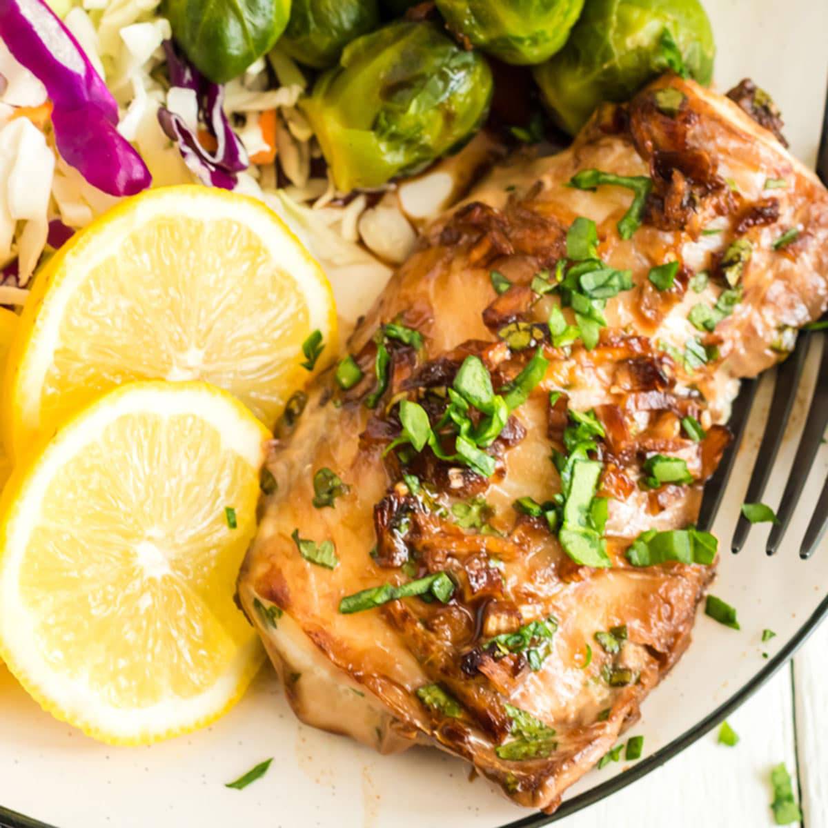
[[[768,423],[765,426],[762,445],[759,446],[754,461],[748,493],[744,496],[745,503],[758,503],[768,485],[768,478],[773,464],[776,463],[779,446],[782,445],[782,435],[791,417],[793,401],[797,397],[797,387],[802,378],[802,367],[805,365],[810,344],[811,331],[803,331],[793,354],[777,368],[776,383],[773,386],[773,402],[768,412]],[[744,546],[751,525],[748,518],[740,513],[733,542],[730,545],[734,554]]]

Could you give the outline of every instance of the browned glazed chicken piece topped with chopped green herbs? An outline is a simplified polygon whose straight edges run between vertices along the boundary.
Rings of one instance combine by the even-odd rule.
[[[666,76],[426,229],[272,444],[238,595],[302,720],[546,811],[635,720],[715,573],[739,378],[828,306],[778,126]]]

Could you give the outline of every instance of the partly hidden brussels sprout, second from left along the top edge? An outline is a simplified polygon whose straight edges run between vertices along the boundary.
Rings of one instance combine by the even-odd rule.
[[[299,63],[327,69],[350,41],[378,25],[377,0],[293,0],[279,46]]]

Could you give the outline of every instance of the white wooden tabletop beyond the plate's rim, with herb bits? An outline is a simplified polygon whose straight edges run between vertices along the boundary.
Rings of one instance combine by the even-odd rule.
[[[730,716],[734,748],[718,728],[663,768],[561,821],[566,828],[773,826],[770,769],[787,764],[804,828],[828,828],[828,622],[794,661]]]

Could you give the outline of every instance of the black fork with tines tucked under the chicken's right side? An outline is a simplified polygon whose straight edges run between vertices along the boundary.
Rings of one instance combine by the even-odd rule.
[[[820,176],[823,184],[828,185],[828,101],[826,101],[826,110],[823,115],[822,137],[816,159],[816,173]],[[815,339],[822,338],[824,338],[824,335],[815,335],[809,330],[802,331],[794,352],[777,368],[773,387],[773,401],[768,412],[768,422],[765,425],[762,444],[759,446],[754,461],[748,492],[745,495],[746,503],[758,503],[762,499],[771,470],[777,459],[779,447],[782,445],[782,435],[791,416],[808,350]],[[811,399],[811,407],[808,409],[805,427],[797,446],[797,454],[793,460],[791,473],[777,509],[777,523],[774,523],[768,536],[768,555],[773,555],[777,551],[782,543],[782,538],[785,537],[794,509],[799,502],[802,489],[805,487],[806,479],[823,442],[826,426],[828,426],[828,341],[823,342],[822,346],[822,359],[816,378],[816,388]],[[709,529],[713,525],[716,513],[719,511],[724,498],[724,490],[727,488],[730,473],[733,470],[736,455],[744,437],[744,430],[748,424],[750,409],[753,407],[757,388],[758,380],[744,380],[739,397],[734,402],[733,413],[729,422],[730,430],[733,432],[733,440],[725,450],[719,468],[716,469],[715,474],[705,486],[705,494],[699,513],[699,526],[702,529]],[[732,542],[734,553],[744,546],[750,527],[749,520],[744,515],[739,515],[739,522],[736,524]],[[802,539],[802,547],[799,551],[800,557],[808,558],[814,553],[816,546],[826,532],[826,527],[828,527],[828,479],[826,479],[822,488],[819,501],[811,516],[811,522],[806,529],[805,537]]]

